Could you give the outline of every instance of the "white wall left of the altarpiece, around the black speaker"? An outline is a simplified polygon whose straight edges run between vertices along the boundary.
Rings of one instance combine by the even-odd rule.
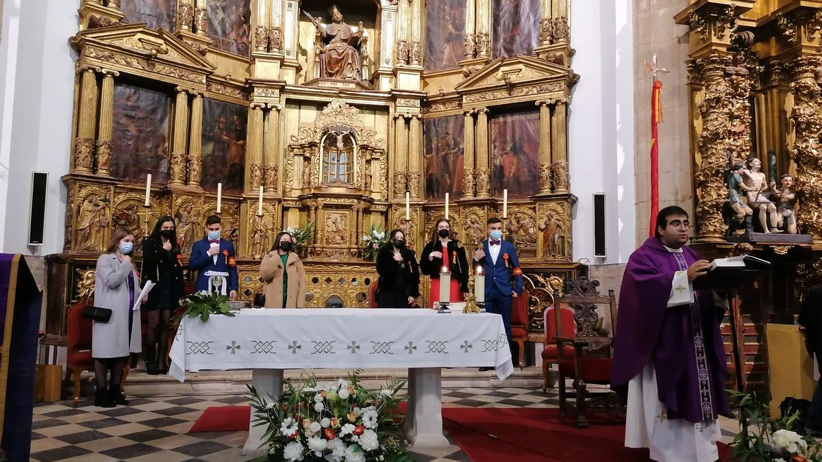
[[[62,251],[79,0],[6,0],[0,45],[0,250]],[[45,237],[29,247],[31,173],[47,172]]]

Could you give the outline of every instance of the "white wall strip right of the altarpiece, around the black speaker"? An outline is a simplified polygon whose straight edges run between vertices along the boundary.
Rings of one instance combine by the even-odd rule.
[[[628,260],[635,243],[633,10],[630,2],[571,2],[571,68],[580,75],[568,120],[574,260]],[[593,194],[606,194],[607,258],[593,257]]]

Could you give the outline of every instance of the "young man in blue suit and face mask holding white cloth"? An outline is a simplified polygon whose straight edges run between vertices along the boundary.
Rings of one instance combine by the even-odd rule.
[[[208,290],[209,276],[205,273],[215,271],[229,273],[229,298],[237,299],[237,256],[234,247],[223,238],[220,233],[223,225],[219,222],[219,216],[211,215],[205,219],[205,232],[208,236],[194,243],[192,247],[192,257],[188,260],[188,267],[192,271],[197,271],[197,280],[194,289],[197,292]]]

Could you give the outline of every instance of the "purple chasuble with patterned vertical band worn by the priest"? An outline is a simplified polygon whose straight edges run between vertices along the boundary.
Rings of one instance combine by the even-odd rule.
[[[667,418],[693,423],[730,413],[719,331],[723,309],[713,303],[711,291],[695,292],[695,303],[667,307],[674,273],[699,259],[690,247],[668,252],[657,238],[648,238],[630,255],[622,277],[611,377],[613,389],[626,390],[653,361]]]

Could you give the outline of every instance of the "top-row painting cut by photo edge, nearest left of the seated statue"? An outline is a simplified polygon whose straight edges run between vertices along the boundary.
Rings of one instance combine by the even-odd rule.
[[[208,30],[213,46],[240,56],[251,55],[251,0],[209,0]]]

